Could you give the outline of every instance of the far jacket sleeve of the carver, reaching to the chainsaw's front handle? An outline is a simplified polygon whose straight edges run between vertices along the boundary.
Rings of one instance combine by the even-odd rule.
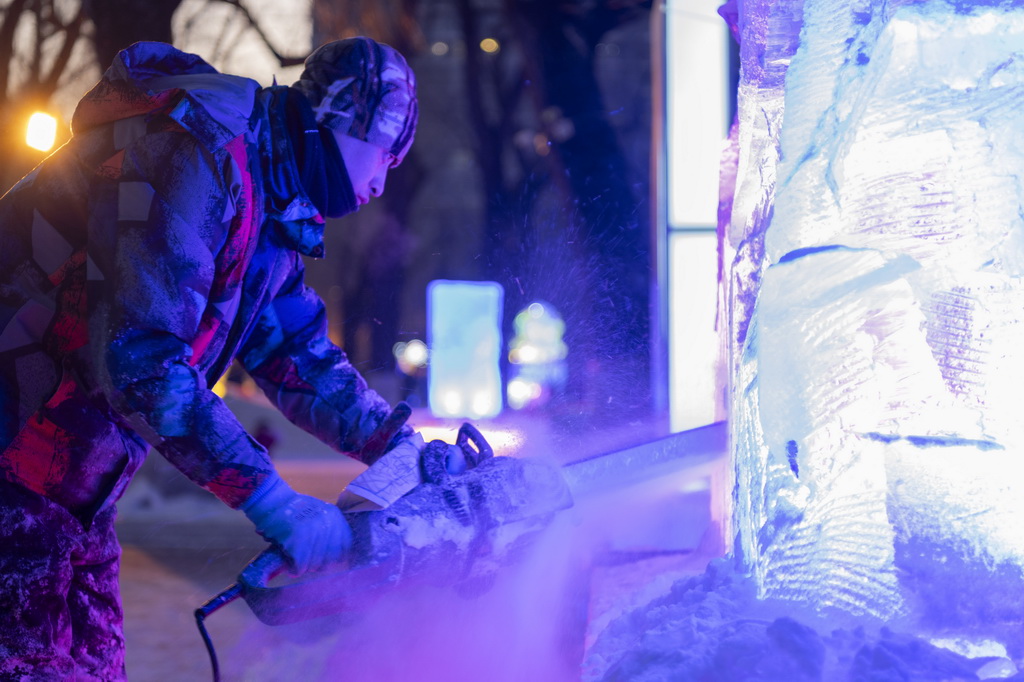
[[[239,357],[293,424],[358,458],[390,407],[328,339],[324,303],[304,285],[299,255],[292,251],[289,258],[287,281],[262,310]],[[404,427],[396,439],[411,432]]]

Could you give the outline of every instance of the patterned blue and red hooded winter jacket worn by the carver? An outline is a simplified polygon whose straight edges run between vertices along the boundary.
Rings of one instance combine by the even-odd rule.
[[[152,445],[238,507],[272,465],[210,390],[236,357],[340,452],[383,421],[303,284],[323,219],[264,188],[260,101],[255,81],[136,44],[0,200],[0,476],[88,522]]]

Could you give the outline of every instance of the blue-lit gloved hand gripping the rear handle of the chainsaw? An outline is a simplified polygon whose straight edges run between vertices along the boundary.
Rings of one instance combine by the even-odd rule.
[[[334,505],[299,495],[278,474],[242,505],[256,532],[285,555],[296,574],[338,561],[352,543],[352,531]]]

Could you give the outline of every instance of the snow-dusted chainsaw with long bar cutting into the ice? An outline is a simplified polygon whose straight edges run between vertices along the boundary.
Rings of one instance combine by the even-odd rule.
[[[382,430],[395,430],[408,415],[393,417],[395,423]],[[481,594],[555,514],[573,505],[573,495],[629,485],[678,467],[684,458],[690,466],[711,461],[725,451],[725,433],[723,423],[712,424],[559,468],[540,459],[495,457],[480,432],[463,424],[455,446],[465,457],[466,469],[449,471],[447,442],[427,443],[420,460],[421,482],[382,509],[345,513],[352,545],[335,568],[289,580],[282,576],[284,557],[267,549],[234,584],[196,609],[214,680],[220,679],[219,669],[204,621],[239,598],[260,622],[281,626],[362,611],[403,585]],[[380,440],[383,445],[389,438]],[[384,463],[371,464],[349,487],[357,488],[360,478]]]

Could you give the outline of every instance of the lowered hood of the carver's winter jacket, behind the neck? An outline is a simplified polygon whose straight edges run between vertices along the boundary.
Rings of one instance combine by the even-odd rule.
[[[135,43],[118,53],[79,102],[72,130],[167,110],[204,145],[217,148],[247,130],[258,89],[256,81],[221,74],[166,43]]]

